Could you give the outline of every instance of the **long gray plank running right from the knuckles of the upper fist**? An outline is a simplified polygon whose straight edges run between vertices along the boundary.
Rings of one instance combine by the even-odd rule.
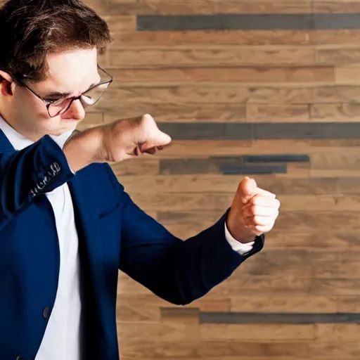
[[[174,140],[360,139],[360,123],[159,122]]]

